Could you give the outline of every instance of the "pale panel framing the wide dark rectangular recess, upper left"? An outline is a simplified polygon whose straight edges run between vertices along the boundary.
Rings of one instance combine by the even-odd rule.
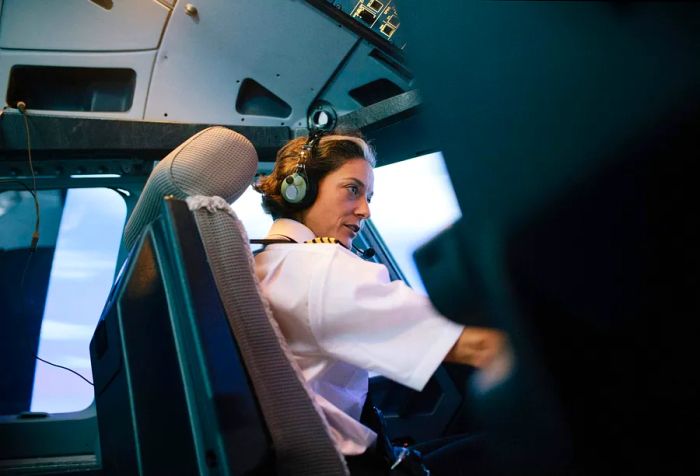
[[[89,68],[131,68],[136,72],[136,88],[131,109],[125,112],[61,112],[46,111],[54,116],[105,117],[119,119],[141,119],[146,103],[148,82],[153,69],[156,51],[133,51],[128,53],[64,53],[44,51],[0,51],[0,91],[4,96],[14,65],[77,66]],[[31,104],[29,105],[31,108]],[[32,111],[35,113],[35,111]]]

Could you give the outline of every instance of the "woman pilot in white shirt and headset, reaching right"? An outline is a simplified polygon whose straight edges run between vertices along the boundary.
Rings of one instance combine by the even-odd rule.
[[[441,362],[483,367],[504,345],[351,251],[370,217],[374,165],[361,137],[301,137],[256,186],[275,219],[267,239],[279,240],[256,256],[263,294],[351,469],[377,437],[359,421],[368,371],[421,390]]]

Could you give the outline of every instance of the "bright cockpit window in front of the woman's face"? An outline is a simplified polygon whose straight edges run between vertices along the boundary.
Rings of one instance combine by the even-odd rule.
[[[461,216],[442,154],[378,167],[374,192],[372,222],[406,280],[425,293],[413,252]]]

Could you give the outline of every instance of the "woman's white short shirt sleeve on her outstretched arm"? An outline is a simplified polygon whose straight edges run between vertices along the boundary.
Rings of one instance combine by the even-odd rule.
[[[343,249],[311,277],[309,319],[329,355],[421,390],[462,332],[383,265]]]

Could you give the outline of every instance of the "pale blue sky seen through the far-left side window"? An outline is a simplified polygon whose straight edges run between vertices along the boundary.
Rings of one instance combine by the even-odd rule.
[[[56,241],[38,356],[92,380],[89,343],[114,278],[126,204],[106,188],[71,189]],[[37,360],[31,411],[82,410],[92,386]]]

